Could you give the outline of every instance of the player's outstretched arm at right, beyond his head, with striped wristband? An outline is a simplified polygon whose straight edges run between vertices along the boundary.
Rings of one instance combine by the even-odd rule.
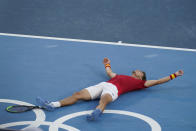
[[[154,86],[154,85],[158,85],[158,84],[163,84],[163,83],[166,83],[178,76],[182,76],[184,74],[183,70],[179,70],[177,71],[176,73],[174,74],[171,74],[170,76],[167,76],[167,77],[164,77],[164,78],[161,78],[159,80],[148,80],[145,82],[145,86],[146,87],[151,87],[151,86]]]

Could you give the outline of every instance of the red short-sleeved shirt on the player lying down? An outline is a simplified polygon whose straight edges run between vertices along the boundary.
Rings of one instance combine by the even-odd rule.
[[[139,80],[132,76],[126,76],[126,75],[116,75],[115,77],[113,77],[107,82],[112,83],[117,87],[118,96],[120,96],[123,93],[130,92],[133,90],[139,90],[139,89],[146,88],[144,86],[144,83],[146,81]]]

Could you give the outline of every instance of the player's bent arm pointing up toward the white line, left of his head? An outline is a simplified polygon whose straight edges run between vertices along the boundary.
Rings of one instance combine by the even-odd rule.
[[[107,75],[110,78],[115,77],[116,76],[116,73],[112,72],[111,65],[110,65],[110,60],[108,58],[104,58],[103,64],[105,66],[105,70],[106,70]]]

